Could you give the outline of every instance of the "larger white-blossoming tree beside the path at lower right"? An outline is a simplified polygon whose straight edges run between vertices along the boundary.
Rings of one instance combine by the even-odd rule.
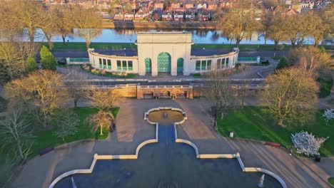
[[[319,149],[323,142],[327,140],[324,137],[315,137],[312,133],[301,131],[291,135],[291,140],[298,153],[302,153],[306,156],[319,155]]]

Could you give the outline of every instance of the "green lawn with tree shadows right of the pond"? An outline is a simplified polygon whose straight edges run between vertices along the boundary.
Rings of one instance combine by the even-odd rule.
[[[285,122],[286,128],[275,125],[273,116],[268,109],[260,107],[245,107],[243,109],[231,110],[223,120],[218,120],[218,132],[224,137],[228,137],[233,131],[235,137],[249,138],[253,140],[263,140],[278,142],[283,147],[292,146],[291,133],[305,130],[312,132],[316,137],[329,137],[320,154],[323,156],[334,155],[334,125],[326,124],[323,120],[323,110],[318,110],[312,120],[300,125],[296,121]],[[332,123],[333,124],[333,123]]]

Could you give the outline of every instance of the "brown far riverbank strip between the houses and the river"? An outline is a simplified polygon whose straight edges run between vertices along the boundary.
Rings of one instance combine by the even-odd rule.
[[[191,21],[191,22],[133,22],[133,21],[109,21],[103,20],[102,28],[145,28],[145,29],[210,29],[216,30],[217,22],[215,21]]]

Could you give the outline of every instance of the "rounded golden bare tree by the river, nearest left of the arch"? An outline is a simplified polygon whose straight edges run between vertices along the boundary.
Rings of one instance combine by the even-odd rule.
[[[66,21],[71,28],[78,29],[77,35],[85,39],[88,49],[91,40],[102,32],[102,19],[93,9],[83,9],[80,6],[74,6],[70,13],[69,16],[66,16]]]

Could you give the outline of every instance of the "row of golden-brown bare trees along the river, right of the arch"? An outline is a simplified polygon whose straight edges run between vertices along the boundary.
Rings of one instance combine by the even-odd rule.
[[[246,8],[247,7],[247,8]],[[288,15],[283,12],[263,11],[257,14],[255,9],[241,6],[216,14],[218,28],[236,44],[251,38],[254,31],[264,33],[265,41],[270,38],[275,43],[288,41],[291,46],[303,45],[306,37],[313,37],[314,46],[334,31],[334,6],[323,11],[308,11],[302,14]]]

